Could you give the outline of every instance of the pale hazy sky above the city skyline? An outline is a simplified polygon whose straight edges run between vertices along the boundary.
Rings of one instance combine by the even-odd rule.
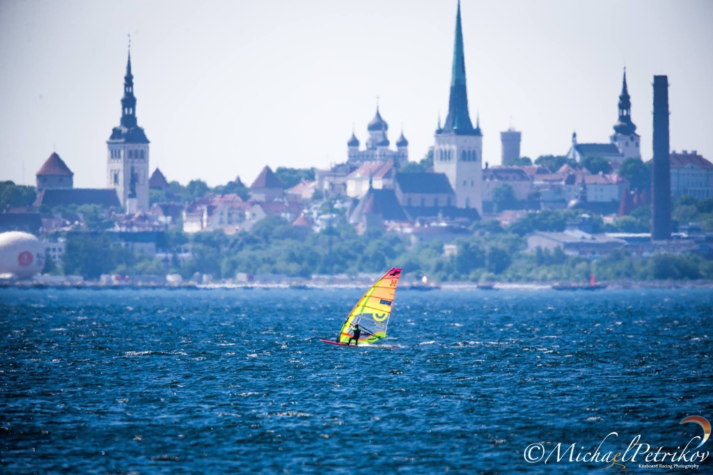
[[[463,0],[471,118],[484,159],[607,142],[622,68],[651,156],[652,79],[670,81],[671,148],[713,160],[713,1]],[[448,110],[456,0],[0,0],[0,179],[34,184],[53,150],[106,186],[127,34],[150,168],[210,185],[260,168],[327,168],[366,141],[376,96],[412,160]],[[393,145],[392,145],[393,146]]]

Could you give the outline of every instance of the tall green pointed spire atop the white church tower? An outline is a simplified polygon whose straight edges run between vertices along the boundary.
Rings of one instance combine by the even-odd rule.
[[[463,27],[461,26],[461,2],[458,1],[456,14],[456,41],[453,46],[453,71],[451,76],[451,96],[448,98],[448,116],[441,133],[456,133],[461,136],[481,135],[473,129],[468,114],[468,91],[466,91],[466,61],[463,55]]]

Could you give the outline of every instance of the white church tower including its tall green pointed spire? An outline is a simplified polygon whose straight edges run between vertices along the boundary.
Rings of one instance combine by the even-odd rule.
[[[463,57],[461,2],[456,14],[456,42],[453,47],[453,73],[448,116],[438,127],[434,144],[434,172],[445,173],[456,193],[458,208],[476,208],[483,214],[483,133],[480,124],[473,128],[468,113],[466,63]]]

